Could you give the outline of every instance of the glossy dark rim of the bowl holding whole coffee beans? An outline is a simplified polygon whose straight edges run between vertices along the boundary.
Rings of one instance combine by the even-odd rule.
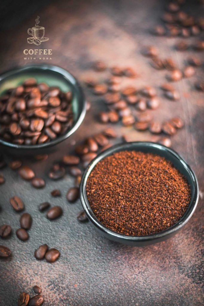
[[[17,66],[13,69],[9,69],[9,70],[3,72],[0,75],[0,83],[5,78],[7,78],[9,76],[12,76],[14,73],[23,72],[23,71],[30,70],[30,69],[40,69],[42,71],[43,70],[44,71],[45,70],[50,70],[50,71],[54,71],[54,72],[57,72],[57,73],[61,74],[61,76],[63,76],[65,78],[65,80],[67,80],[69,83],[71,83],[73,85],[73,87],[78,89],[79,99],[82,103],[82,111],[79,115],[78,120],[75,122],[75,124],[72,126],[72,128],[69,129],[68,132],[66,132],[65,134],[57,137],[54,140],[51,140],[50,142],[46,142],[44,144],[24,145],[24,144],[13,144],[13,143],[10,143],[10,142],[0,138],[0,144],[4,145],[6,147],[23,149],[23,150],[41,149],[41,148],[52,147],[56,144],[59,144],[60,142],[62,142],[66,138],[68,138],[69,136],[71,136],[79,128],[79,126],[83,122],[83,119],[85,118],[87,101],[86,101],[83,89],[82,89],[79,81],[76,79],[76,77],[74,77],[71,73],[69,73],[64,68],[61,68],[61,67],[55,66],[55,65],[50,65],[50,64],[36,64],[36,65],[30,64],[30,65],[25,65],[25,66]]]

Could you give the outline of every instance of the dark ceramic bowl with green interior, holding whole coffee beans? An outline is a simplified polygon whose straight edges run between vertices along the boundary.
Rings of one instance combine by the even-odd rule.
[[[57,66],[27,65],[3,73],[0,76],[0,95],[3,95],[8,88],[22,84],[29,77],[34,77],[38,83],[45,82],[49,86],[58,86],[62,91],[72,91],[74,122],[72,128],[65,134],[45,144],[19,145],[0,138],[0,149],[15,155],[37,155],[56,150],[57,144],[78,129],[86,114],[86,100],[80,84],[68,71]]]

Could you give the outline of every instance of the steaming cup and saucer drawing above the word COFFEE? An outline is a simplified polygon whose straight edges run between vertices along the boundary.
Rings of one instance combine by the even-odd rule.
[[[28,43],[34,43],[35,45],[39,46],[42,42],[49,40],[49,38],[44,37],[45,35],[45,28],[40,27],[38,24],[40,17],[38,16],[35,19],[35,26],[28,29],[28,34],[32,35],[32,37],[28,37]]]

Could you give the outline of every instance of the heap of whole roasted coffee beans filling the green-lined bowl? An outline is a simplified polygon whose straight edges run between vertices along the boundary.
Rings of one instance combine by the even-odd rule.
[[[64,134],[72,124],[71,91],[62,92],[30,78],[0,97],[0,137],[8,142],[43,144]]]

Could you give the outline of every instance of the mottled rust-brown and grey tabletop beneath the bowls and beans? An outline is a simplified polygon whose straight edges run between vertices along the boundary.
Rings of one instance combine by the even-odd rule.
[[[136,86],[163,83],[166,71],[150,67],[149,59],[141,55],[143,45],[154,44],[161,57],[172,56],[180,68],[191,51],[178,52],[174,44],[179,38],[158,38],[149,34],[149,29],[158,23],[163,12],[164,1],[42,1],[24,3],[16,13],[2,17],[0,36],[1,72],[16,65],[43,62],[24,60],[23,50],[34,45],[27,44],[27,29],[40,16],[40,25],[45,27],[49,41],[40,47],[53,50],[52,60],[46,63],[59,65],[73,73],[80,81],[87,75],[95,75],[91,62],[102,59],[107,65],[132,65],[139,78],[131,81]],[[202,6],[187,2],[186,10],[195,16],[202,15]],[[8,13],[8,6],[5,12]],[[15,10],[14,10],[15,11]],[[1,14],[3,14],[1,12]],[[9,17],[11,16],[11,17]],[[196,38],[187,39],[192,43]],[[39,47],[36,47],[39,48]],[[200,58],[203,57],[199,53]],[[99,79],[106,73],[98,75]],[[203,77],[202,68],[196,69],[191,79],[175,84],[182,99],[178,103],[162,97],[154,118],[165,120],[172,115],[184,118],[185,128],[172,138],[172,147],[180,153],[195,171],[204,196],[203,185],[203,95],[193,89],[194,82]],[[131,83],[130,81],[128,84]],[[6,183],[0,187],[0,222],[12,226],[12,237],[1,244],[13,253],[9,260],[0,262],[0,305],[17,305],[22,291],[32,293],[32,286],[42,288],[45,306],[80,305],[128,305],[128,306],[197,306],[203,303],[203,199],[200,198],[195,214],[187,226],[168,241],[145,248],[132,248],[113,243],[101,237],[88,224],[79,224],[76,214],[81,209],[80,200],[69,204],[65,195],[73,179],[67,175],[58,182],[47,178],[53,161],[71,152],[71,140],[77,142],[84,136],[100,131],[94,114],[105,109],[102,103],[85,89],[92,108],[87,113],[77,132],[63,144],[63,151],[49,156],[46,162],[24,160],[32,165],[37,176],[46,179],[46,188],[35,190],[29,182],[22,181],[16,172],[8,168],[1,170]],[[119,135],[127,134],[131,140],[150,140],[149,132],[139,133],[117,124]],[[157,137],[154,138],[157,140]],[[61,189],[61,198],[51,198],[50,191]],[[19,227],[19,215],[9,198],[20,196],[26,211],[33,217],[27,242],[19,241],[15,230]],[[64,214],[50,222],[38,211],[38,204],[50,201],[63,207]],[[37,261],[34,250],[42,243],[61,251],[60,259],[53,264]],[[32,293],[33,294],[33,293]]]

